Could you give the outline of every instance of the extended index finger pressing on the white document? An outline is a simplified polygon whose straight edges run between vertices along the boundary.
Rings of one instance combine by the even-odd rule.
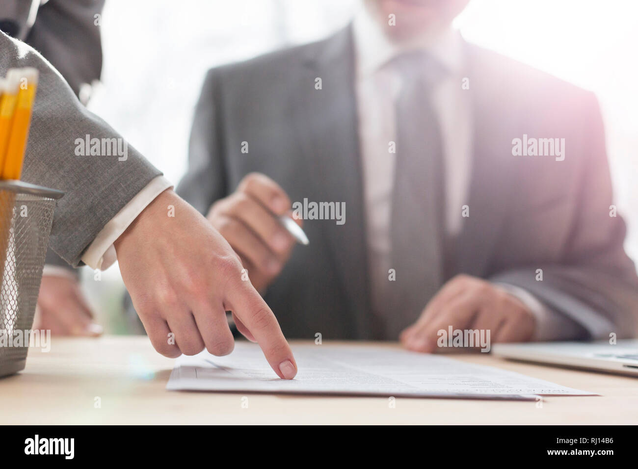
[[[295,357],[277,318],[257,290],[248,282],[235,283],[226,297],[225,308],[230,309],[251,332],[279,378],[292,380],[297,374]]]

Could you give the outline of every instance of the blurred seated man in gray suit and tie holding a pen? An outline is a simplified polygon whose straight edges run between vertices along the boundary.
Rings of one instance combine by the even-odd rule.
[[[366,0],[325,40],[205,78],[178,193],[287,336],[431,352],[449,327],[637,331],[595,97],[466,43],[450,28],[466,3]],[[310,244],[293,249],[273,218],[293,202],[345,217],[304,211]]]

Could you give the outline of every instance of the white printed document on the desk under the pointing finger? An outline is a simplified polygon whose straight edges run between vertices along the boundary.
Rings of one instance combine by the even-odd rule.
[[[292,350],[299,369],[293,380],[275,375],[258,345],[237,342],[225,357],[206,351],[179,357],[167,389],[527,400],[539,394],[594,395],[491,366],[383,346],[313,343]]]

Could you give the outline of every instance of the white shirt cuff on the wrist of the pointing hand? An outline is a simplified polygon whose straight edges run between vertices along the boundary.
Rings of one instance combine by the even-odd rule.
[[[117,260],[115,246],[113,243],[120,237],[126,228],[133,223],[133,220],[149,205],[159,194],[171,188],[173,184],[164,176],[158,176],[149,182],[144,189],[110,220],[101,232],[95,237],[93,242],[84,251],[82,262],[91,269],[108,269]]]

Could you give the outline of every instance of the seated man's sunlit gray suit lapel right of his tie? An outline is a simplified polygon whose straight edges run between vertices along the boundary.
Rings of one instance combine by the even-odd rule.
[[[517,136],[519,119],[512,112],[514,103],[505,102],[496,93],[500,73],[491,73],[481,59],[481,50],[466,44],[467,77],[470,94],[473,143],[472,170],[468,202],[470,216],[464,224],[456,246],[457,271],[473,276],[491,273],[496,242],[505,222],[505,207],[512,186],[512,138]]]

